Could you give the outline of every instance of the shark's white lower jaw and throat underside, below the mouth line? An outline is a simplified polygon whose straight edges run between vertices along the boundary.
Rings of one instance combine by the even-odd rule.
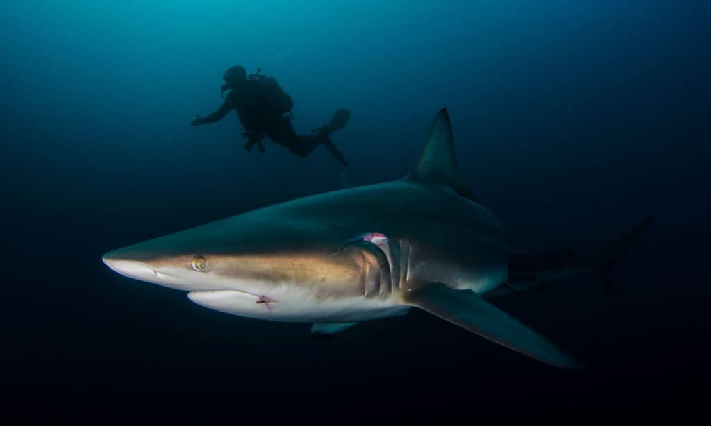
[[[236,290],[193,291],[188,298],[213,310],[258,320],[284,322],[358,322],[403,315],[407,305],[363,296],[317,299],[294,288],[276,288],[268,296]]]

